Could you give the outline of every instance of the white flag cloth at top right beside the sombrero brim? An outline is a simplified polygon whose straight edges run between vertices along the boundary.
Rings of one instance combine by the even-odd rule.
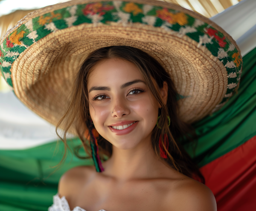
[[[256,0],[243,0],[210,19],[236,40],[242,56],[256,47]]]

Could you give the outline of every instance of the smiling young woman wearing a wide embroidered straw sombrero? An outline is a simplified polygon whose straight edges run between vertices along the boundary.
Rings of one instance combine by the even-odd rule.
[[[79,136],[95,164],[61,177],[50,211],[216,210],[181,144],[233,95],[241,64],[223,29],[157,0],[49,6],[0,42],[16,96],[64,142]]]

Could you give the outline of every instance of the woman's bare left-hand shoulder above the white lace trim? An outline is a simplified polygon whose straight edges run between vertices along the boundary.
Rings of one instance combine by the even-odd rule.
[[[85,184],[93,173],[95,173],[93,166],[77,166],[66,171],[58,183],[59,196],[68,199],[76,195],[83,187],[82,184]]]

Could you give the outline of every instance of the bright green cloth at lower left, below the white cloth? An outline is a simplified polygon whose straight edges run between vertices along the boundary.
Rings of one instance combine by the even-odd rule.
[[[61,175],[77,165],[93,165],[91,159],[73,155],[80,140],[69,140],[65,162],[64,144],[53,142],[26,150],[0,151],[0,211],[46,211],[57,193]],[[83,150],[79,155],[86,156]]]

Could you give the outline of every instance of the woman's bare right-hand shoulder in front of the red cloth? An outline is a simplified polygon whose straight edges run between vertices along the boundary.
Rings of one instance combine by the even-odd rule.
[[[184,177],[175,182],[172,199],[167,202],[174,211],[217,211],[212,191],[201,182]],[[166,209],[169,210],[169,209]]]

